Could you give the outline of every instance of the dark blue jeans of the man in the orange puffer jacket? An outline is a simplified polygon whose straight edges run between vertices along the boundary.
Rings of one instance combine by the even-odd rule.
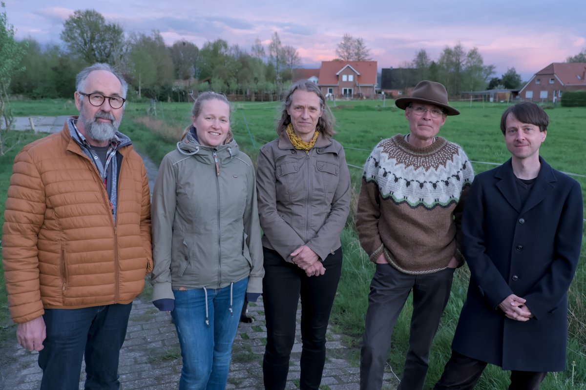
[[[47,327],[39,352],[41,390],[77,390],[86,358],[85,388],[117,390],[118,358],[132,303],[82,309],[45,309]]]

